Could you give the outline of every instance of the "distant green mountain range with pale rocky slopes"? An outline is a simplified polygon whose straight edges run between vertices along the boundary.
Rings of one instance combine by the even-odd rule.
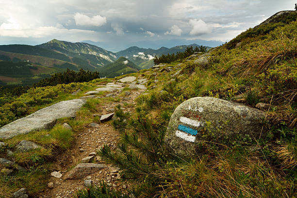
[[[0,67],[3,69],[10,66],[5,74],[0,73],[0,84],[31,85],[66,68],[75,71],[80,68],[99,71],[101,77],[113,78],[122,73],[131,73],[149,68],[153,66],[154,56],[184,51],[190,46],[199,47],[197,44],[173,48],[161,47],[160,49],[145,49],[133,46],[118,52],[112,52],[88,43],[71,43],[57,39],[36,46],[0,45]],[[207,49],[210,49],[210,47],[207,47]],[[23,63],[18,63],[24,61],[27,62],[27,67]],[[24,68],[31,69],[25,76],[21,76],[20,74]]]

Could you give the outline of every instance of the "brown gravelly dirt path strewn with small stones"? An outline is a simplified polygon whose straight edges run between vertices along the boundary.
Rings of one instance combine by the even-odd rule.
[[[135,104],[134,99],[137,98],[144,90],[131,90],[131,94],[127,97],[130,99],[121,99],[119,102],[113,101],[105,104],[101,104],[102,114],[108,114],[107,110],[115,108],[117,104],[121,105],[121,108],[125,112],[133,112],[134,105],[125,107],[124,103]],[[126,105],[127,106],[127,105]],[[82,159],[89,156],[89,153],[96,152],[104,144],[109,145],[113,150],[116,148],[116,143],[119,138],[118,132],[116,132],[111,124],[111,121],[102,122],[99,124],[99,128],[85,127],[82,131],[75,134],[75,143],[73,148],[66,153],[58,157],[58,160],[54,162],[55,171],[62,173],[62,178],[58,179],[50,177],[49,183],[53,183],[53,188],[47,188],[44,195],[41,198],[71,198],[75,195],[78,189],[84,189],[84,180],[92,180],[94,185],[99,184],[99,181],[104,180],[110,183],[114,188],[120,190],[126,188],[126,185],[119,185],[117,180],[120,178],[118,171],[115,167],[107,165],[106,168],[96,171],[93,174],[87,175],[78,180],[65,180],[64,175],[75,165],[81,163]],[[92,161],[93,163],[103,163],[100,157]],[[91,162],[90,162],[91,163]]]

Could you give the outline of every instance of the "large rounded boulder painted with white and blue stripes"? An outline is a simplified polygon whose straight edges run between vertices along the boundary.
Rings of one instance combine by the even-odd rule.
[[[211,97],[184,101],[170,118],[165,145],[180,156],[191,156],[203,141],[221,142],[236,134],[259,138],[264,112]]]

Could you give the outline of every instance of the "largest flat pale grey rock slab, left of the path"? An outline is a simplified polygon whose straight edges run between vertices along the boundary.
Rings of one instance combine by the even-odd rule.
[[[17,119],[0,128],[0,138],[11,138],[18,134],[49,129],[57,119],[75,117],[76,112],[85,104],[83,99],[61,101],[40,109],[26,117]]]

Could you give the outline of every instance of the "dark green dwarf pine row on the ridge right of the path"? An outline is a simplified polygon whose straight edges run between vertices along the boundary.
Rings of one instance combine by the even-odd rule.
[[[184,52],[177,52],[176,54],[167,54],[167,55],[162,55],[159,58],[157,56],[155,56],[154,58],[154,64],[158,65],[160,63],[171,63],[180,59],[184,59],[188,56],[191,56],[192,54],[194,54],[195,52],[206,52],[207,48],[204,46],[200,46],[199,48],[196,47],[195,49],[193,49],[193,46],[191,47],[187,47]]]

